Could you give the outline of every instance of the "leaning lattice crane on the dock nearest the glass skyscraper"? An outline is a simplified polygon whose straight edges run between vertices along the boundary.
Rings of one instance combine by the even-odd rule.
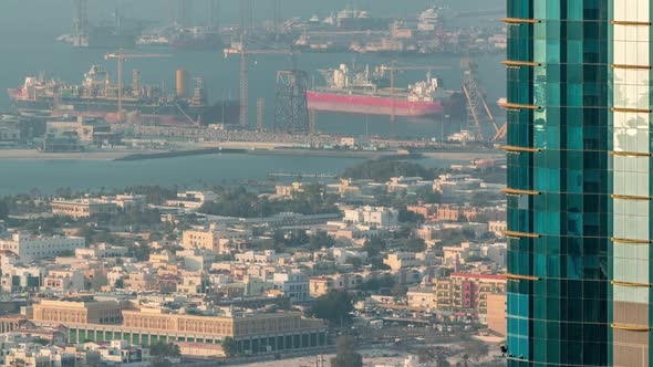
[[[465,93],[465,98],[467,99],[468,125],[474,124],[478,132],[478,137],[483,140],[487,140],[488,138],[486,138],[481,125],[481,115],[485,112],[487,119],[495,130],[495,136],[490,139],[490,141],[496,143],[504,139],[506,137],[508,125],[504,124],[499,127],[497,124],[495,116],[485,101],[485,95],[478,85],[476,64],[470,61],[464,61],[464,65],[468,67],[468,70],[465,71],[465,80],[463,81],[463,92]],[[480,109],[480,106],[483,106],[483,111]]]

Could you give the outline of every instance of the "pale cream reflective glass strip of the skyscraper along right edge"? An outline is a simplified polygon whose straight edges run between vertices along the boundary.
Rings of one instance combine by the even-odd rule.
[[[610,361],[651,366],[651,0],[611,0]]]

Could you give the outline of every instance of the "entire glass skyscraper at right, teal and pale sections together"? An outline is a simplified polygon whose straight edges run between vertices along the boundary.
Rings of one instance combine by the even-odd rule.
[[[508,0],[508,366],[641,366],[620,343],[647,345],[647,84],[610,38],[650,28],[612,2],[649,0]]]

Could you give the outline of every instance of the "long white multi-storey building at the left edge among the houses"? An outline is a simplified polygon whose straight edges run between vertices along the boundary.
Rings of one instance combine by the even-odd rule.
[[[23,263],[37,260],[54,259],[62,253],[74,253],[84,248],[86,240],[80,237],[31,237],[13,233],[10,240],[0,240],[0,250],[11,251]]]

